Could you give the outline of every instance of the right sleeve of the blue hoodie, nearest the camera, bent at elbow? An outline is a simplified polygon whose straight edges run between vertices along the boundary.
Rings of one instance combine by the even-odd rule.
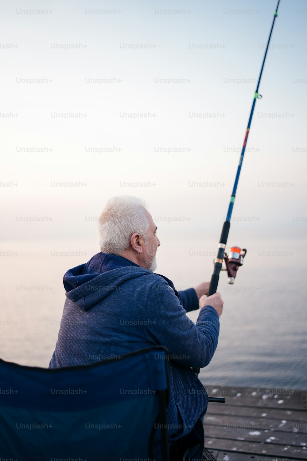
[[[169,358],[183,366],[203,368],[218,343],[220,322],[214,307],[200,310],[197,323],[185,314],[178,297],[164,280],[149,290],[145,305],[147,340],[167,347]]]

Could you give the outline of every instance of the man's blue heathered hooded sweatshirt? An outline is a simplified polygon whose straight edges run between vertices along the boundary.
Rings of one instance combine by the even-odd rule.
[[[126,258],[97,253],[64,275],[66,300],[49,368],[91,364],[152,344],[169,351],[169,437],[191,431],[208,396],[191,367],[208,365],[219,336],[219,316],[200,310],[193,288],[177,292],[168,278]],[[173,428],[173,429],[172,429]]]

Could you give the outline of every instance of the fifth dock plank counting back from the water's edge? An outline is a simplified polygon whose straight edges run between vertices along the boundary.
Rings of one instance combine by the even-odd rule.
[[[246,442],[245,440],[228,440],[225,438],[212,437],[205,437],[205,446],[207,449],[237,451],[262,456],[284,456],[288,459],[292,456],[299,460],[307,460],[306,447],[291,447],[290,445],[284,446],[271,443],[252,443]]]

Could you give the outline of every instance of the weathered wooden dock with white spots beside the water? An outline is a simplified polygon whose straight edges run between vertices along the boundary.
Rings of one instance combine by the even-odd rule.
[[[307,391],[205,385],[205,447],[218,461],[307,460]]]

